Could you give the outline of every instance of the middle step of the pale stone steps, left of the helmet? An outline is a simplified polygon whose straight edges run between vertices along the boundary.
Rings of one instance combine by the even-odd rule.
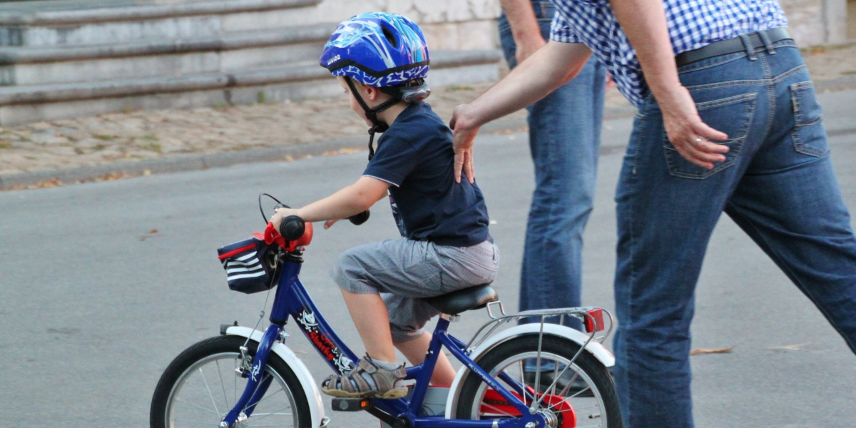
[[[317,62],[335,24],[122,45],[0,51],[0,86],[233,72]]]

